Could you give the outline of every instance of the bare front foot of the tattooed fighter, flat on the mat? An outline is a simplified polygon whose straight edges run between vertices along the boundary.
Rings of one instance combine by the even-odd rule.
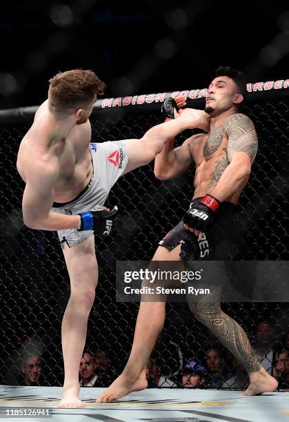
[[[144,390],[147,387],[146,370],[143,370],[137,379],[132,379],[128,374],[122,373],[105,392],[97,397],[97,403],[108,403],[120,399],[132,391]]]

